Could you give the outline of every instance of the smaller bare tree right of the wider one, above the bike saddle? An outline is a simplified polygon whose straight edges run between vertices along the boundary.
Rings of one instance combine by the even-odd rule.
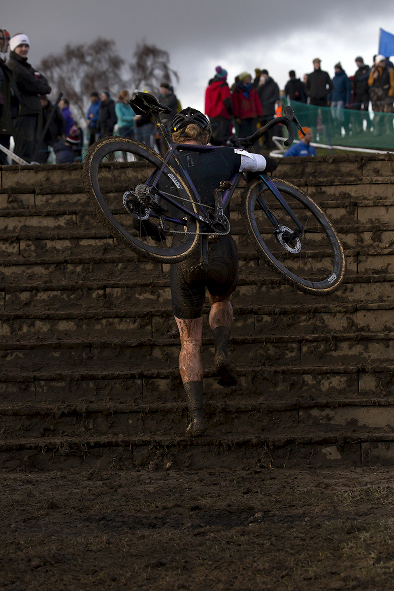
[[[146,41],[138,43],[133,53],[133,63],[130,64],[133,88],[146,87],[153,94],[158,94],[161,82],[171,84],[172,79],[178,81],[178,74],[170,68],[169,63],[168,51],[148,45]]]

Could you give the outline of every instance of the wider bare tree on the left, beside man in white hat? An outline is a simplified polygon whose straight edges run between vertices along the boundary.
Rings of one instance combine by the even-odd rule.
[[[61,53],[44,57],[38,71],[47,78],[53,95],[63,92],[85,119],[93,90],[108,90],[117,95],[128,87],[129,81],[122,76],[124,64],[115,41],[99,37],[89,44],[67,44]]]

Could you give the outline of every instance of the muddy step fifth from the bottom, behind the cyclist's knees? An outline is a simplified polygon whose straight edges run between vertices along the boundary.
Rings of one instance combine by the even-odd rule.
[[[71,301],[72,298],[70,297]],[[81,307],[79,310],[78,307]],[[0,335],[4,342],[9,343],[40,343],[48,336],[56,335],[57,339],[67,342],[73,335],[82,340],[97,341],[119,339],[133,336],[138,339],[162,338],[171,336],[178,338],[177,325],[170,310],[163,314],[161,310],[148,312],[140,310],[113,310],[103,313],[98,310],[82,309],[78,304],[76,310],[48,310],[37,316],[31,311],[20,311],[19,314],[0,313]],[[6,307],[8,310],[8,307]],[[207,312],[203,314],[203,337],[211,338]],[[357,310],[356,306],[327,306],[320,309],[289,309],[265,306],[261,309],[245,310],[235,307],[235,319],[232,334],[237,337],[252,336],[299,336],[345,334],[349,329],[354,332],[383,332],[392,329],[392,310],[372,309]]]

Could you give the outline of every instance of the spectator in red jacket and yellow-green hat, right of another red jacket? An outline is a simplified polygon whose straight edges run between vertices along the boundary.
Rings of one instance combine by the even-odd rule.
[[[250,86],[252,76],[248,72],[242,72],[238,79],[231,101],[237,135],[245,138],[255,133],[259,118],[263,115],[263,109],[258,93]]]

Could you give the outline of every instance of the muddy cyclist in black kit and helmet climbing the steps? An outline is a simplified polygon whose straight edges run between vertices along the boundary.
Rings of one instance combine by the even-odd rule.
[[[172,141],[178,144],[206,145],[210,138],[210,122],[203,113],[188,107],[175,116],[171,135]],[[273,158],[230,147],[209,152],[185,149],[180,151],[180,159],[201,200],[210,206],[214,206],[214,190],[234,173],[271,172],[278,166]],[[224,213],[229,217],[229,208]],[[211,304],[209,324],[213,332],[214,365],[219,384],[233,386],[237,383],[235,367],[227,354],[233,322],[231,298],[237,281],[238,251],[230,234],[210,236],[206,262],[198,254],[171,265],[172,307],[181,338],[179,368],[188,404],[187,434],[192,436],[203,434],[206,428],[200,353],[206,289]]]

